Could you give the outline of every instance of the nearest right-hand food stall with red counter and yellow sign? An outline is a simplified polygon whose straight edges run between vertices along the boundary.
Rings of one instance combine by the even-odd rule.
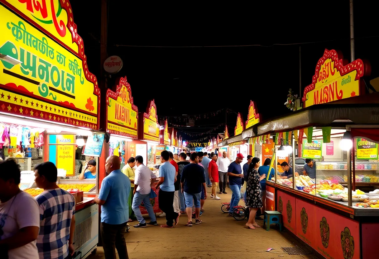
[[[276,152],[285,152],[288,139],[292,168],[300,171],[302,162],[305,169],[288,178],[276,172],[266,183],[266,208],[281,212],[283,226],[326,258],[377,257],[379,108],[360,81],[369,72],[362,60],[344,64],[325,50],[304,109],[255,128],[257,136],[275,134]]]

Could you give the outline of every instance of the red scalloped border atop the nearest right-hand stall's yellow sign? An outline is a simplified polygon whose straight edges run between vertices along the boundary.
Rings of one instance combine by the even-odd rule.
[[[338,55],[340,55],[341,57],[340,59],[338,59]],[[328,58],[334,61],[334,68],[337,69],[338,72],[340,72],[341,76],[346,75],[347,73],[350,73],[356,70],[357,75],[354,80],[359,80],[362,76],[368,75],[371,72],[370,64],[367,62],[363,62],[362,59],[356,59],[353,62],[346,64],[347,61],[346,59],[343,59],[342,53],[337,53],[337,51],[335,50],[325,49],[324,55],[317,62],[315,74],[312,76],[312,84],[306,86],[304,89],[304,95],[302,98],[303,102],[305,102],[307,98],[307,93],[315,89],[317,78],[319,77],[319,70],[321,68],[321,65],[324,64],[325,60]]]

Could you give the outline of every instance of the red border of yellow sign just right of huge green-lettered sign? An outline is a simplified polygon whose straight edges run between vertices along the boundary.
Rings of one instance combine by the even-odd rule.
[[[132,110],[137,113],[137,121],[138,121],[138,107],[135,106],[134,103],[133,103],[132,89],[130,87],[130,84],[128,83],[128,80],[127,80],[126,76],[121,77],[120,80],[119,80],[119,83],[117,84],[116,92],[113,92],[111,89],[106,90],[106,120],[107,120],[107,123],[106,123],[106,132],[111,133],[111,134],[117,134],[117,135],[120,135],[120,136],[125,136],[125,137],[132,137],[132,138],[136,139],[137,135],[124,133],[124,132],[118,131],[118,130],[110,130],[110,129],[108,129],[108,106],[109,106],[109,98],[112,98],[113,100],[117,101],[117,98],[121,94],[121,89],[122,89],[123,85],[126,87],[126,90],[129,93],[129,102],[132,104]],[[121,125],[121,124],[118,124],[118,123],[115,123],[115,122],[109,122],[109,123],[112,123],[112,124],[120,126],[120,127],[129,128],[129,127],[125,127],[125,125]],[[131,130],[135,130],[135,129],[132,129],[132,128],[130,128],[130,129]],[[138,122],[137,122],[137,129],[136,130],[138,132]]]

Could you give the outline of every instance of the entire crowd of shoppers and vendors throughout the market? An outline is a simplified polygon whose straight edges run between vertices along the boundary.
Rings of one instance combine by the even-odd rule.
[[[271,180],[274,169],[269,172],[269,158],[260,166],[259,158],[248,155],[246,164],[241,167],[243,159],[241,153],[230,162],[226,152],[222,156],[207,152],[178,155],[164,150],[156,179],[144,165],[142,156],[129,158],[122,170],[118,156],[108,157],[105,163],[108,175],[102,181],[99,196],[94,199],[101,205],[100,234],[105,258],[116,258],[116,249],[119,258],[128,258],[124,234],[132,218],[138,221],[135,228],[158,225],[150,203],[150,199],[157,196],[154,187],[159,189],[160,216],[166,217],[166,224],[161,227],[173,228],[184,214],[187,215],[185,226],[202,223],[200,216],[204,212],[207,186],[211,187],[210,198],[220,200],[222,194],[227,193],[229,182],[232,191],[229,215],[233,216],[233,207],[238,206],[241,199],[241,186],[246,182],[243,194],[249,208],[246,226],[249,229],[259,227],[255,218],[265,211],[266,175]],[[313,176],[313,161],[307,159],[305,162],[302,173]],[[279,177],[293,175],[287,162],[280,166],[284,173]],[[86,177],[91,177],[96,162],[90,161],[88,168]],[[17,162],[13,159],[0,161],[0,258],[72,258],[75,256],[75,199],[57,186],[57,169],[52,162],[37,165],[34,175],[36,186],[44,189],[35,198],[19,189],[20,166]],[[141,203],[149,214],[149,222],[141,214]]]

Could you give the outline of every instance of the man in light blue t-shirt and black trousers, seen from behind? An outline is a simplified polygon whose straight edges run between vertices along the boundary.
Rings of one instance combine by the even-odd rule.
[[[163,163],[159,167],[159,181],[155,188],[159,189],[158,203],[161,211],[166,213],[166,224],[162,225],[162,228],[173,228],[173,221],[175,226],[179,222],[180,213],[174,211],[174,194],[176,179],[176,170],[174,165],[169,162],[170,154],[167,150],[163,150],[161,153],[161,162]]]

